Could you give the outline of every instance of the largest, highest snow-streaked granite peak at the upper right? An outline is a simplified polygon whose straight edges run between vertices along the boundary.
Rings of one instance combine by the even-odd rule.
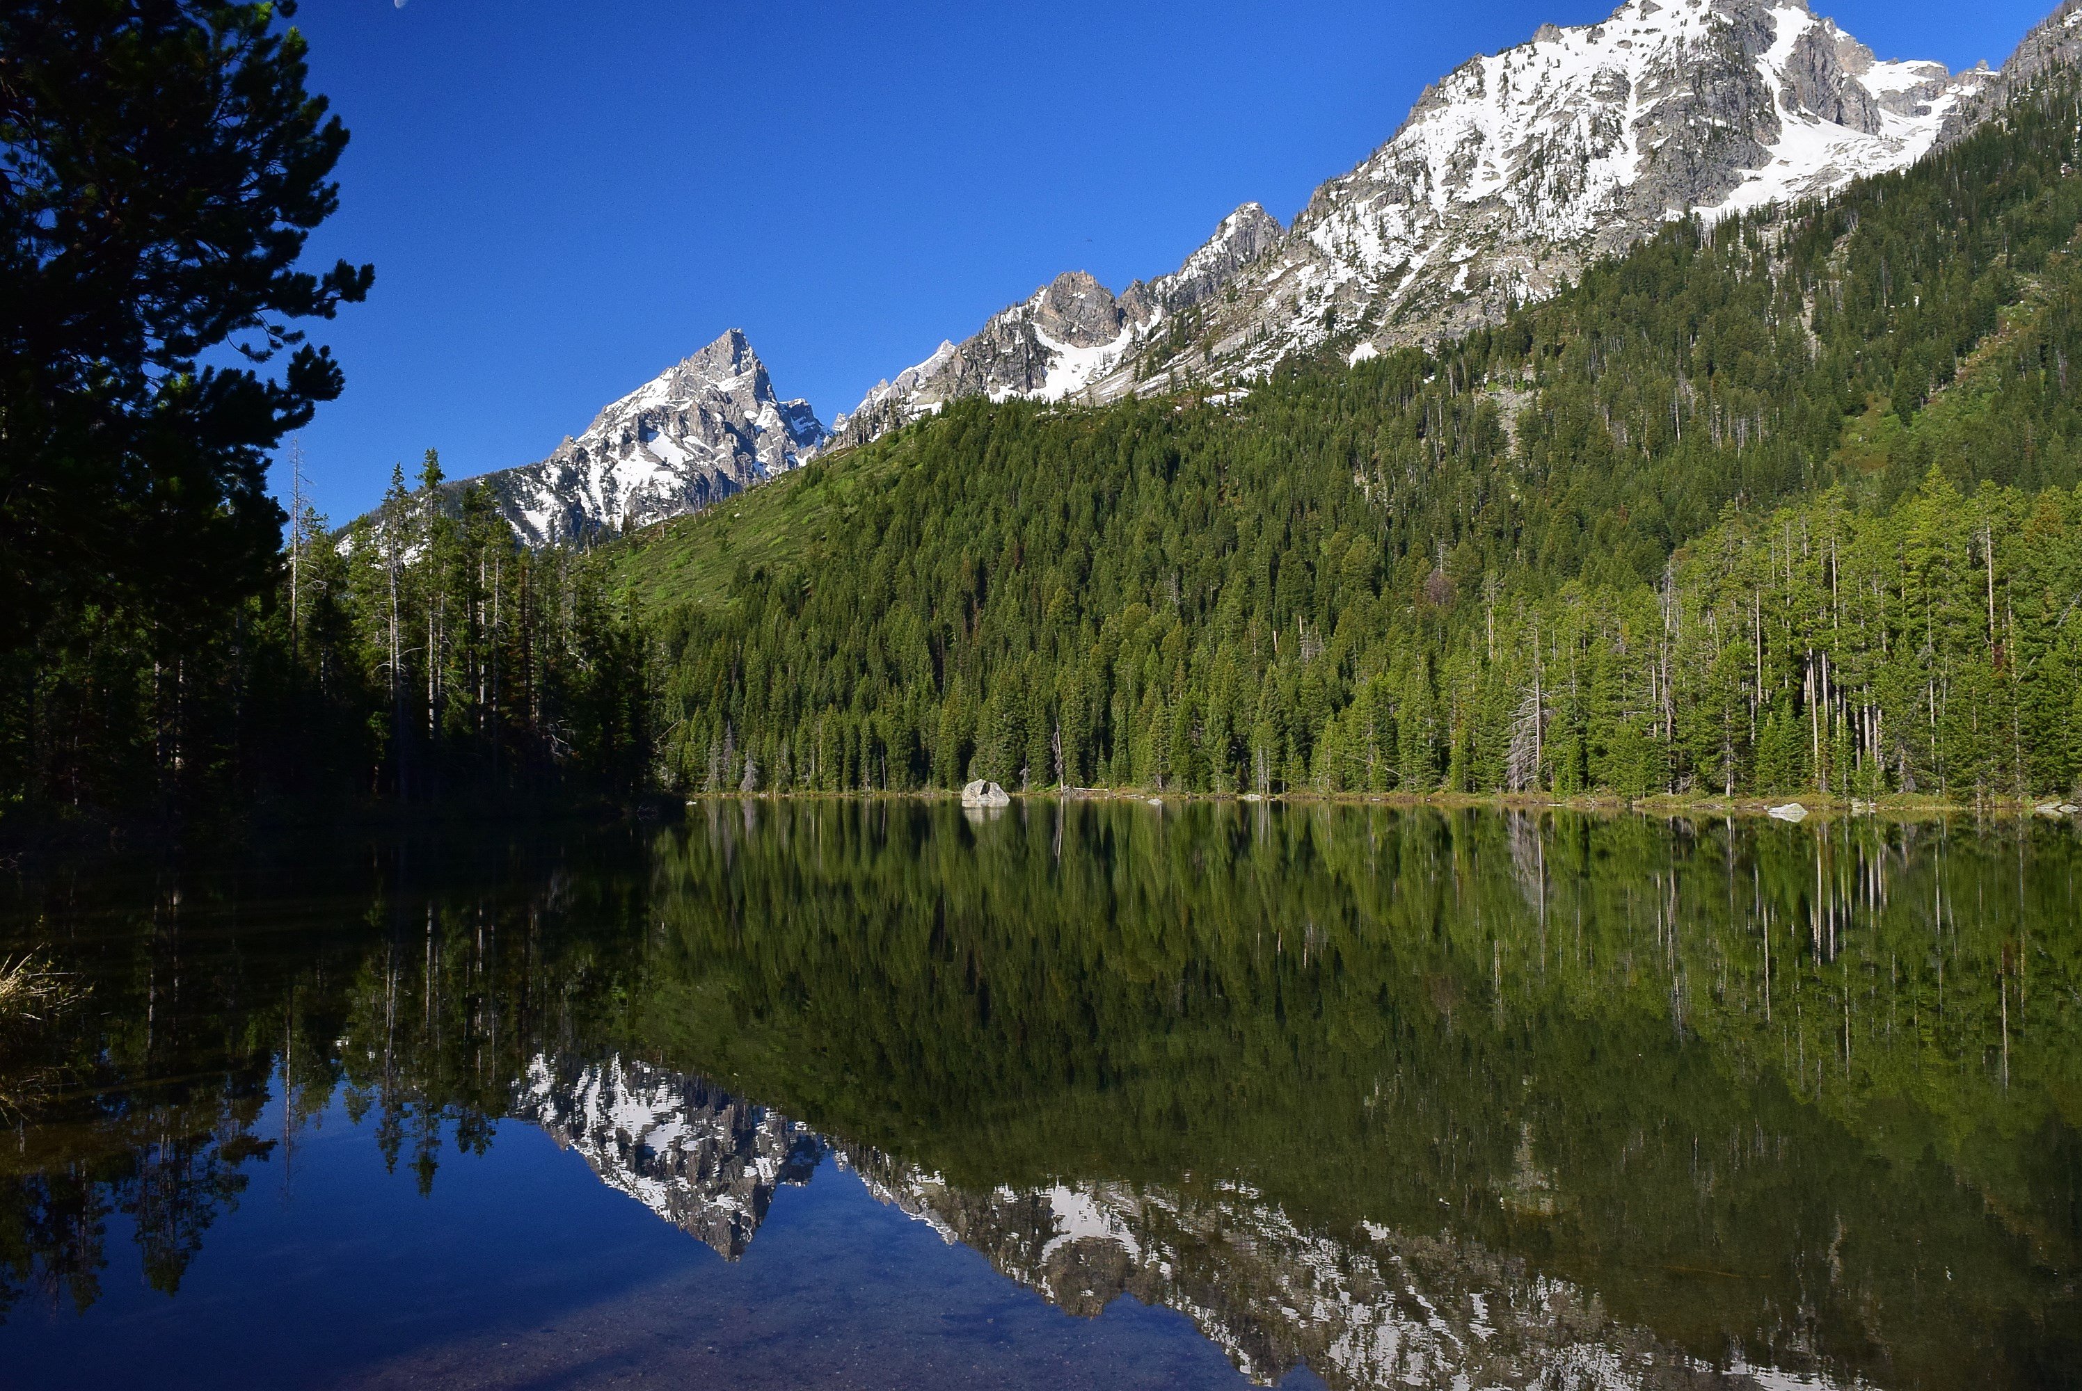
[[[1626,0],[1428,87],[1208,327],[1230,373],[1326,339],[1437,342],[1672,217],[1840,189],[1936,142],[1986,77],[1882,62],[1805,0]]]

